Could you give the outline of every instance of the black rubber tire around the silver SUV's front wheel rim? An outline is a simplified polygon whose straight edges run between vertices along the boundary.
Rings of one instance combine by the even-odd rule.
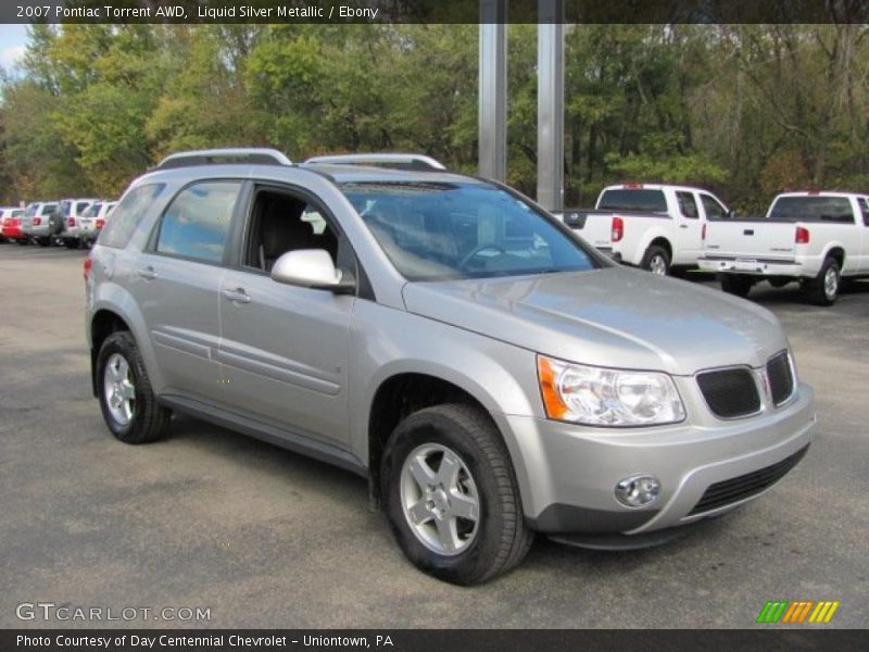
[[[468,548],[445,555],[426,547],[411,529],[402,505],[402,468],[426,444],[449,448],[467,467],[479,498],[479,521]],[[488,415],[459,403],[426,408],[407,416],[387,443],[381,463],[387,517],[407,559],[439,579],[470,586],[515,567],[531,547],[519,489],[506,446]]]

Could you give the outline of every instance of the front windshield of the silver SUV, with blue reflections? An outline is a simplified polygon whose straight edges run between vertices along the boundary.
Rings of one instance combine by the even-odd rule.
[[[444,181],[348,183],[341,190],[408,280],[575,272],[597,266],[509,192]]]

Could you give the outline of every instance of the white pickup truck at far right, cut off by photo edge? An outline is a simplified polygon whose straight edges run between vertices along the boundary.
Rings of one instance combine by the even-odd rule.
[[[726,292],[798,281],[818,305],[832,305],[842,278],[869,276],[869,197],[784,192],[766,217],[709,225],[700,266],[717,272]]]

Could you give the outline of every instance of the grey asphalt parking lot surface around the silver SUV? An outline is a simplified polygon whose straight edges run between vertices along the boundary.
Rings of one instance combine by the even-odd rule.
[[[85,255],[0,244],[0,627],[125,624],[16,617],[51,602],[210,609],[137,627],[729,628],[767,600],[839,600],[826,627],[866,626],[869,281],[831,309],[794,286],[753,292],[820,423],[771,492],[651,550],[539,538],[516,572],[462,589],[404,560],[350,473],[188,417],[160,443],[111,437],[90,393]]]

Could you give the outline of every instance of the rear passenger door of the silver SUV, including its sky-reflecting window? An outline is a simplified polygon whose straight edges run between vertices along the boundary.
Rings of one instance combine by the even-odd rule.
[[[162,393],[205,403],[223,397],[218,297],[241,187],[239,180],[217,179],[181,189],[137,261],[131,291],[153,342]]]

